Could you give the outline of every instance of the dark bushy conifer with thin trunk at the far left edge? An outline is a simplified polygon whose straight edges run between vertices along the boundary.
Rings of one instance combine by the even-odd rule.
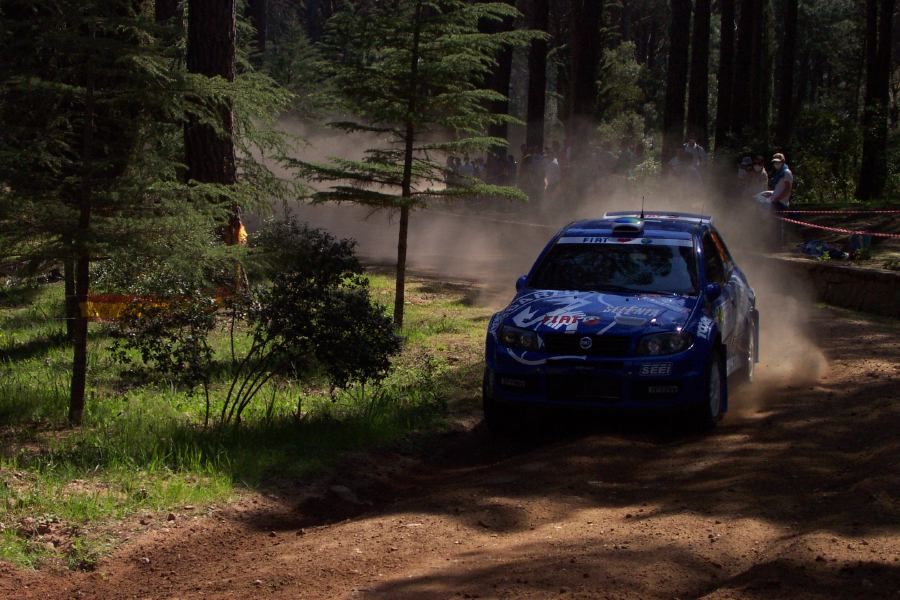
[[[72,424],[85,409],[91,263],[122,253],[185,257],[195,268],[213,224],[267,180],[245,159],[242,186],[183,182],[186,119],[215,122],[212,99],[229,97],[252,107],[236,125],[244,135],[286,100],[261,79],[226,85],[178,69],[149,9],[138,0],[0,1],[9,58],[0,67],[0,230],[21,260],[72,267]]]

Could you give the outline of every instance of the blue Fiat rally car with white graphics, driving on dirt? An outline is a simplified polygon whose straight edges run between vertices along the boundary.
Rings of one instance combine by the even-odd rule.
[[[488,326],[484,417],[669,409],[713,427],[753,377],[759,313],[710,217],[607,213],[562,229]]]

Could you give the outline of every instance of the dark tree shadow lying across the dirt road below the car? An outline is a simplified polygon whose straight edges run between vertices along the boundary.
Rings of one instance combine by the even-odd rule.
[[[734,399],[752,410],[730,415],[712,434],[686,433],[665,418],[552,418],[518,439],[492,438],[478,425],[422,440],[420,462],[405,472],[385,467],[391,453],[354,459],[334,482],[354,497],[329,492],[301,502],[277,525],[424,511],[467,527],[490,514],[492,529],[510,532],[528,519],[490,499],[565,495],[594,506],[652,505],[657,515],[691,510],[854,534],[895,530],[900,350],[886,342],[898,339],[898,326],[847,319],[824,312],[812,322],[833,376],[796,384],[764,372],[761,391]],[[873,344],[882,362],[870,369]],[[260,517],[261,528],[275,525],[271,513]]]

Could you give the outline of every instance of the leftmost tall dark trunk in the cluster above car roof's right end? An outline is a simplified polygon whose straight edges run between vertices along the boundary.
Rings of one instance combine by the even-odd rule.
[[[691,0],[671,0],[669,66],[666,73],[666,103],[663,112],[663,169],[684,142],[684,96],[687,88],[688,49],[691,32]]]

